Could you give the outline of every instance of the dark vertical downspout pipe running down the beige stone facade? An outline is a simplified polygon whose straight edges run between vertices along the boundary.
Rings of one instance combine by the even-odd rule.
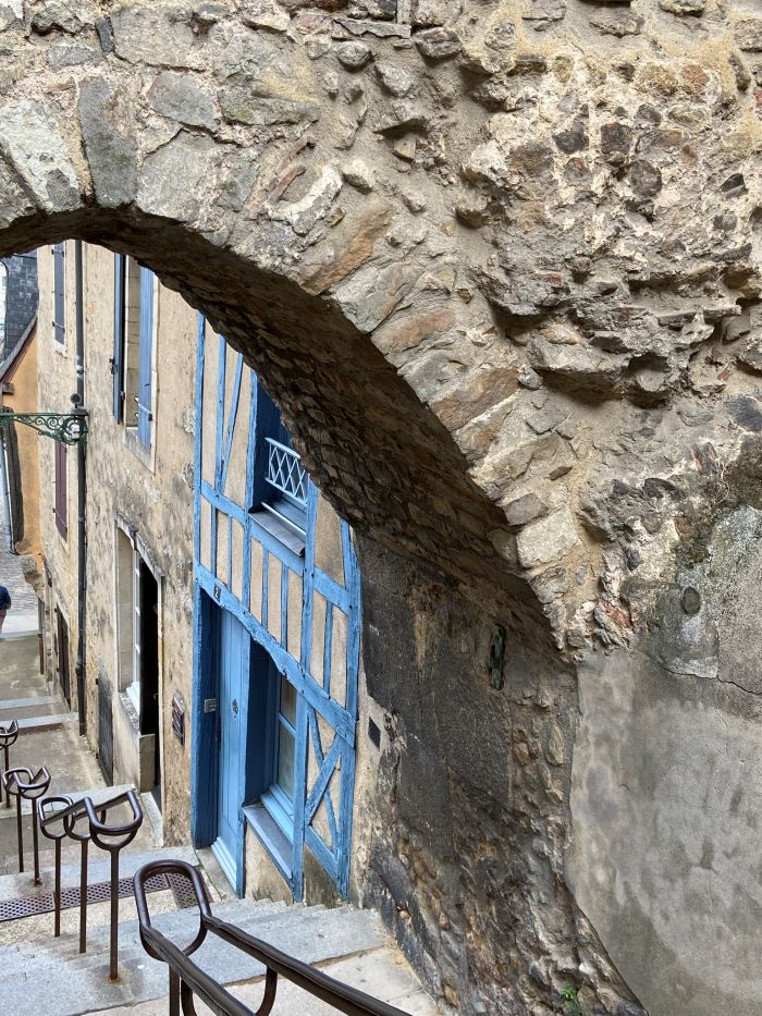
[[[83,272],[82,241],[74,243],[74,278],[76,298],[76,394],[72,396],[75,408],[85,407],[85,285]],[[87,621],[87,445],[77,444],[77,649],[74,673],[76,675],[77,715],[79,735],[87,733],[85,708],[85,633]]]

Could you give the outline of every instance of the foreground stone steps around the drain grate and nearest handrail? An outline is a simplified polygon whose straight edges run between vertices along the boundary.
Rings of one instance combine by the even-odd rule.
[[[110,788],[113,794],[119,788]],[[96,796],[94,794],[94,796]],[[103,789],[97,797],[102,799]],[[110,796],[110,795],[109,795]],[[145,841],[144,841],[145,842]],[[72,845],[73,846],[73,845]],[[360,988],[404,1012],[435,1016],[437,1008],[392,946],[378,915],[349,906],[286,906],[271,899],[221,898],[198,855],[188,847],[135,849],[121,857],[120,877],[161,858],[176,858],[201,867],[216,916],[263,939],[298,959]],[[65,860],[72,858],[71,852]],[[88,882],[109,879],[108,857],[90,848]],[[28,874],[0,877],[0,906],[5,901],[49,893],[53,870],[45,868],[42,885]],[[78,864],[64,864],[62,886],[78,885]],[[175,944],[189,942],[198,927],[197,909],[179,909],[171,889],[148,896],[153,927]],[[187,901],[185,901],[187,902]],[[182,904],[183,901],[181,899]],[[2,1016],[79,1016],[84,1013],[130,1013],[158,1016],[168,1012],[168,969],[151,959],[139,940],[132,897],[120,903],[120,979],[109,981],[109,903],[91,903],[88,909],[87,953],[78,953],[78,909],[62,911],[62,934],[53,938],[52,913],[0,922],[0,1013]],[[265,968],[243,953],[210,935],[194,955],[202,970],[256,1009],[261,1002]],[[197,1004],[199,1016],[207,1013]],[[274,1014],[329,1016],[334,1009],[281,979]]]

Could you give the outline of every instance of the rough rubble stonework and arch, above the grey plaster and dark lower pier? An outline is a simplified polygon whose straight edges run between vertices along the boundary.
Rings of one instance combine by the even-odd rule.
[[[618,641],[643,481],[762,369],[760,20],[640,7],[4,0],[0,248],[128,246],[346,517]]]

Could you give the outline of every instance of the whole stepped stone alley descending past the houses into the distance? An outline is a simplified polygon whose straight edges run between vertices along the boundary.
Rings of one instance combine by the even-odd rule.
[[[1,516],[0,516],[1,517]],[[0,640],[0,733],[12,721],[20,729],[10,748],[10,767],[40,767],[50,772],[47,796],[66,795],[73,801],[89,797],[97,806],[130,789],[108,786],[98,761],[78,734],[77,715],[58,688],[40,672],[36,597],[23,577],[20,559],[8,550],[8,534],[0,531],[0,582],[13,600]],[[167,967],[145,952],[138,930],[132,877],[149,862],[181,860],[200,867],[213,913],[249,933],[305,962],[319,966],[340,981],[419,1016],[437,1008],[420,989],[409,967],[391,945],[378,915],[353,907],[287,907],[271,899],[234,898],[209,849],[162,847],[161,816],[149,793],[139,795],[144,813],[137,835],[120,856],[119,979],[109,977],[110,860],[89,845],[87,867],[86,954],[81,950],[82,844],[64,836],[61,845],[61,934],[54,938],[54,864],[51,840],[39,836],[40,883],[34,883],[32,803],[22,806],[24,872],[20,873],[15,798],[0,801],[0,969],[3,1016],[159,1016],[168,1012]],[[124,809],[116,812],[122,820]],[[111,821],[111,818],[109,819]],[[75,825],[75,831],[82,828]],[[175,942],[196,933],[198,908],[175,880],[150,893],[155,927]],[[205,943],[196,957],[199,966],[222,984],[236,984],[235,994],[256,1009],[265,981],[265,967],[222,942]],[[276,1013],[304,1012],[304,992],[287,981],[279,991]],[[208,1013],[198,1003],[199,1013]],[[311,1000],[312,1016],[328,1016],[332,1006]]]

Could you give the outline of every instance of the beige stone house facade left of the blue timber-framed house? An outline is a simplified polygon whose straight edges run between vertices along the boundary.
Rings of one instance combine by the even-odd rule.
[[[76,391],[76,287],[74,244],[59,245],[63,262],[63,307],[60,327],[41,329],[39,343],[39,406],[71,409]],[[40,316],[54,320],[56,248],[39,252]],[[151,395],[150,433],[137,433],[135,395],[127,379],[114,374],[115,290],[120,260],[101,247],[83,245],[85,339],[84,401],[89,434],[86,456],[86,596],[84,713],[87,736],[98,751],[106,775],[116,783],[156,788],[165,810],[165,835],[187,832],[189,761],[187,752],[167,734],[175,690],[189,697],[192,659],[193,573],[193,428],[195,325],[181,297],[159,285],[152,274],[153,308],[148,333],[156,369]],[[127,266],[133,274],[132,266]],[[134,293],[133,293],[134,296]],[[137,341],[137,304],[124,311],[125,329]],[[125,335],[125,340],[127,336]],[[151,365],[153,365],[153,360]],[[132,356],[130,358],[132,369]],[[123,412],[114,412],[118,390]],[[58,457],[58,462],[57,462]],[[50,633],[52,676],[67,674],[70,700],[76,702],[74,681],[78,644],[77,454],[49,439],[40,441],[40,469],[48,481],[40,491],[42,548],[48,575],[47,628]],[[53,482],[51,482],[51,479]],[[63,517],[62,517],[63,515]],[[136,577],[137,570],[137,577]],[[152,582],[153,600],[140,601]],[[153,627],[152,670],[139,659],[136,619],[147,607]],[[67,660],[60,654],[69,647]],[[142,709],[136,688],[140,666],[144,690],[152,681],[150,710]],[[150,671],[150,675],[149,675]],[[148,694],[148,693],[146,693]],[[150,715],[148,712],[150,711]]]

